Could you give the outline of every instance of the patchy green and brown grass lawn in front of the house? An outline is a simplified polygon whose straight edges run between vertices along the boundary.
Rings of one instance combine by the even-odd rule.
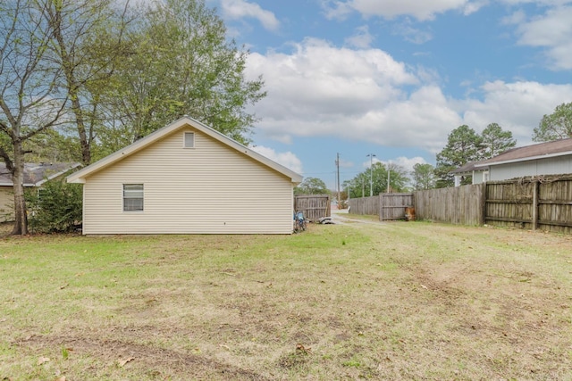
[[[572,380],[572,236],[0,239],[0,380]]]

